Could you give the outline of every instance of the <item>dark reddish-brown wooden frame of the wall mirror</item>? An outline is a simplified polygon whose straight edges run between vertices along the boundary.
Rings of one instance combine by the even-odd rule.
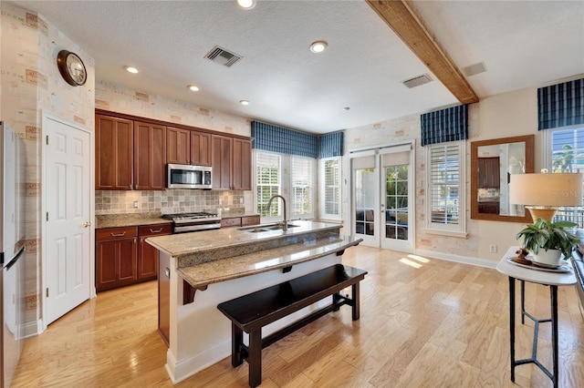
[[[473,220],[493,220],[507,222],[524,222],[531,223],[529,211],[521,216],[502,216],[500,214],[487,214],[478,212],[478,148],[483,146],[494,146],[497,144],[526,143],[526,173],[533,172],[534,169],[534,140],[535,135],[515,136],[512,138],[493,138],[490,140],[473,141],[471,143],[471,219]]]

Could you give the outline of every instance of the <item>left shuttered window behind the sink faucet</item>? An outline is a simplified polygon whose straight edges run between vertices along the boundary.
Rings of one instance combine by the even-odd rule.
[[[255,184],[256,184],[256,206],[257,212],[262,217],[276,217],[283,212],[280,211],[280,201],[267,208],[267,202],[273,195],[281,192],[281,157],[277,154],[267,152],[255,153]]]

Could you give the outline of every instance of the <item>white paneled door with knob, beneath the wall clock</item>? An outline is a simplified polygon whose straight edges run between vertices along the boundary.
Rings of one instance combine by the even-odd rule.
[[[45,116],[45,324],[89,299],[90,133]]]

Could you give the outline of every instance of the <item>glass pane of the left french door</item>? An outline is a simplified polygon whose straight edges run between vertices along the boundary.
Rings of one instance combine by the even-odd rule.
[[[355,232],[375,235],[375,174],[374,168],[355,170]]]

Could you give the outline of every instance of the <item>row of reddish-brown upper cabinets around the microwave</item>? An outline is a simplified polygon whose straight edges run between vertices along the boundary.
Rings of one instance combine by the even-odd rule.
[[[167,163],[213,168],[213,189],[252,189],[250,138],[96,109],[96,189],[166,189]]]

